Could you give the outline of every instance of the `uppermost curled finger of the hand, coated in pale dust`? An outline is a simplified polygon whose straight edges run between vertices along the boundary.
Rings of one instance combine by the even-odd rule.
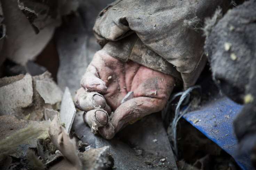
[[[89,91],[107,91],[105,82],[99,78],[98,71],[93,65],[89,65],[87,67],[87,71],[85,75],[83,75],[80,84],[82,87],[87,88]]]

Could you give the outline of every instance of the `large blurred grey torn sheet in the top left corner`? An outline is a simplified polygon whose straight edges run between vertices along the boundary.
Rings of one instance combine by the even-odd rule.
[[[0,0],[0,6],[0,65],[8,58],[24,66],[48,44],[61,16],[78,8],[78,0]]]

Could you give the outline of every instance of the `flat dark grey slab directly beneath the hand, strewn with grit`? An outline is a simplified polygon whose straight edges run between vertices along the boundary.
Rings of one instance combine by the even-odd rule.
[[[125,127],[111,140],[91,133],[90,127],[83,122],[82,114],[83,112],[76,114],[72,129],[90,147],[109,146],[116,169],[177,169],[159,113]],[[158,142],[154,143],[156,138]],[[165,165],[158,165],[161,158],[166,158]]]

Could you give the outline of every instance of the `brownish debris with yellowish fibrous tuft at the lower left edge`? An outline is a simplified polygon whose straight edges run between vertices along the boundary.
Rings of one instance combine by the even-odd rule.
[[[18,119],[15,116],[0,116],[0,158],[36,147],[36,137],[48,129],[48,122]],[[23,146],[22,144],[29,145]]]

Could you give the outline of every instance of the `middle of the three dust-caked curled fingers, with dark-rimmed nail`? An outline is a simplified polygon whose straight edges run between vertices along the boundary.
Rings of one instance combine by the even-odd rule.
[[[95,108],[105,108],[106,101],[104,97],[96,92],[89,92],[81,87],[75,94],[75,105],[78,109],[83,111],[93,110]],[[109,107],[107,107],[109,109]]]

